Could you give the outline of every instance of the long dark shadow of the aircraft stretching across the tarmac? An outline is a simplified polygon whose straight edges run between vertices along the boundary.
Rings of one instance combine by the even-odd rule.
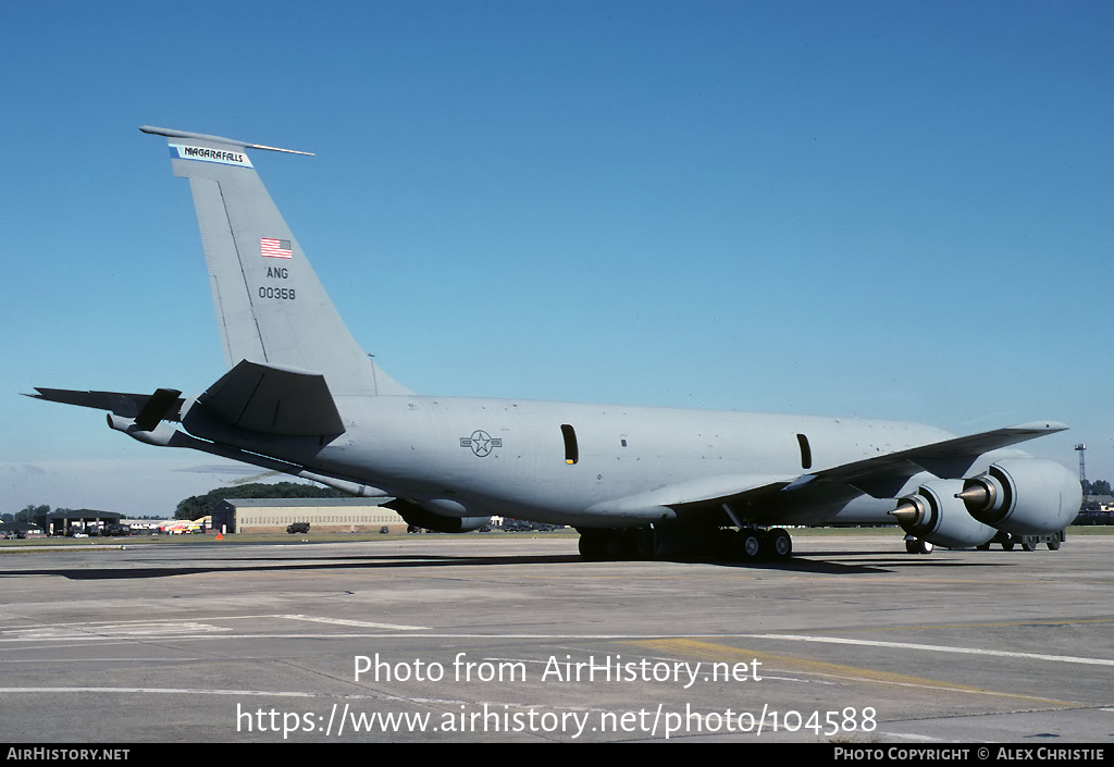
[[[848,552],[832,554],[833,556],[848,557]],[[861,559],[860,559],[861,557]],[[30,575],[52,575],[65,577],[71,581],[129,581],[136,579],[158,579],[173,577],[175,575],[197,575],[205,573],[264,573],[264,572],[299,572],[311,570],[381,570],[381,569],[408,569],[408,567],[494,567],[499,565],[585,565],[598,567],[609,563],[585,563],[577,554],[560,555],[528,555],[528,556],[447,556],[447,555],[361,555],[361,556],[329,556],[321,557],[323,561],[306,560],[305,557],[244,557],[250,562],[258,564],[213,564],[213,565],[150,565],[143,566],[138,563],[129,563],[120,567],[47,567],[42,570],[0,570],[0,579],[3,577],[27,577]],[[221,562],[227,562],[222,560]],[[696,564],[695,562],[675,561],[677,563]],[[278,563],[278,564],[273,564]],[[637,562],[614,562],[613,564],[637,565]],[[653,563],[666,565],[668,562]],[[741,569],[741,570],[778,570],[797,573],[812,573],[821,575],[864,575],[864,574],[892,574],[897,567],[915,566],[918,569],[929,567],[938,570],[941,567],[961,566],[970,567],[999,567],[1008,566],[1005,562],[971,563],[969,561],[948,561],[945,557],[871,557],[866,552],[854,559],[844,559],[841,562],[830,560],[794,557],[784,562],[704,562],[707,566]],[[637,577],[632,574],[632,577]]]

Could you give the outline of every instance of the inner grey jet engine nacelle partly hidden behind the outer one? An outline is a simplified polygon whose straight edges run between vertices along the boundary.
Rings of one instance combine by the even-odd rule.
[[[956,497],[962,487],[962,479],[934,479],[921,485],[915,495],[901,498],[890,514],[898,518],[901,530],[909,535],[937,546],[980,546],[997,531],[967,513],[962,501]]]

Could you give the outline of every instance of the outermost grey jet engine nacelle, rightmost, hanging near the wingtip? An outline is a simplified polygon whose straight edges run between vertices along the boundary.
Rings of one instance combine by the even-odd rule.
[[[1083,504],[1083,488],[1059,464],[1007,458],[964,480],[959,494],[970,515],[1007,533],[1037,535],[1066,527]]]

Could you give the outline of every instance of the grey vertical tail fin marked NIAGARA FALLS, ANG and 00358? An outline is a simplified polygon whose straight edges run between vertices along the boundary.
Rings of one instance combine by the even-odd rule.
[[[189,179],[228,369],[242,360],[324,377],[334,395],[404,394],[352,338],[246,149],[309,154],[144,126]]]

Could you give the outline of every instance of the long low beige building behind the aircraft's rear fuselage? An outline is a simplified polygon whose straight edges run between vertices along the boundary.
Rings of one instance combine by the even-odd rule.
[[[225,533],[280,533],[296,523],[312,532],[392,533],[405,521],[367,498],[226,498],[213,507],[213,530]]]

